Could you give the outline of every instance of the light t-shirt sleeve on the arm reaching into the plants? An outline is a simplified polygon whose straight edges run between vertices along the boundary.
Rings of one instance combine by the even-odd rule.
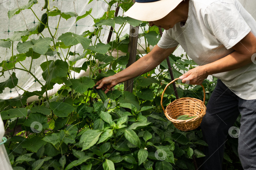
[[[176,42],[171,36],[170,36],[170,30],[163,31],[163,35],[159,42],[157,43],[157,46],[160,48],[172,48],[178,46],[179,43]]]

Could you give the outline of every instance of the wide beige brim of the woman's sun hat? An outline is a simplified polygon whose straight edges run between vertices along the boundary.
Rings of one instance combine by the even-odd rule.
[[[124,15],[141,21],[155,21],[165,17],[183,0],[136,0]]]

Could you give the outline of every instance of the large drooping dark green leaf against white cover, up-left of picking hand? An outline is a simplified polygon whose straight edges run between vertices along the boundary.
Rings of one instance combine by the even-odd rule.
[[[48,71],[48,67],[47,66],[45,67],[45,62],[40,65],[43,70],[42,76],[46,81],[46,84],[49,85],[52,79],[54,78],[65,77],[67,75],[69,70],[69,66],[67,62],[57,59],[55,62],[54,61],[51,61],[51,63],[48,62],[48,64],[49,64],[49,71]]]

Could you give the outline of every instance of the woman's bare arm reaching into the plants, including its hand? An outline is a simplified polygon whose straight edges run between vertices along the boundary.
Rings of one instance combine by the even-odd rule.
[[[113,76],[104,77],[103,79],[99,80],[95,85],[99,85],[97,89],[102,88],[103,90],[105,90],[107,88],[105,90],[105,93],[107,93],[115,85],[153,70],[164,59],[172,54],[175,49],[176,47],[165,49],[160,48],[156,45],[152,49],[152,51],[138,59],[126,69],[120,71]]]

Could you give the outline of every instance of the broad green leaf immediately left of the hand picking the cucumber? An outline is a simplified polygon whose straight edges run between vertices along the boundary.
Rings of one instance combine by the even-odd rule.
[[[81,77],[79,79],[70,79],[72,85],[70,86],[79,93],[84,93],[88,88],[92,88],[95,83],[89,77]]]

